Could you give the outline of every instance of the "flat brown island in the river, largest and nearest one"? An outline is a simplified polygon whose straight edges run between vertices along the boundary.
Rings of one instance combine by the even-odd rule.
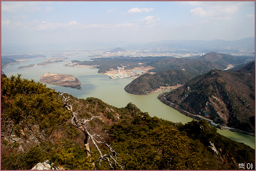
[[[78,78],[67,74],[46,73],[40,78],[41,82],[81,90]]]

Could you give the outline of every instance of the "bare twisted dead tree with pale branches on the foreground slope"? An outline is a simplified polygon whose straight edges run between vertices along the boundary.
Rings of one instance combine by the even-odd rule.
[[[90,119],[78,119],[77,117],[77,113],[75,113],[73,111],[73,104],[69,104],[68,102],[71,100],[69,97],[65,97],[64,94],[67,92],[63,92],[60,93],[58,91],[55,90],[56,93],[58,93],[59,96],[62,97],[62,102],[64,103],[64,106],[67,108],[67,110],[69,110],[71,112],[72,115],[72,119],[71,119],[71,123],[77,127],[78,129],[80,129],[80,131],[82,131],[85,135],[85,139],[84,139],[84,147],[85,147],[85,151],[87,154],[87,157],[90,157],[90,148],[89,148],[89,140],[92,141],[92,143],[94,144],[94,146],[96,147],[96,149],[98,150],[100,157],[96,160],[100,162],[102,161],[107,161],[110,164],[110,167],[112,169],[114,168],[121,168],[123,169],[124,166],[118,164],[118,157],[117,157],[117,153],[115,150],[112,149],[112,147],[110,145],[108,145],[105,141],[102,141],[104,138],[103,136],[105,135],[105,133],[103,134],[103,136],[100,136],[99,134],[94,133],[91,129],[89,129],[88,127],[88,123],[92,120],[94,120],[97,117],[101,117],[101,116],[92,116]],[[97,140],[98,139],[98,140]],[[110,150],[109,154],[102,154],[101,150],[99,149],[99,144],[103,144],[106,145],[108,147],[108,149]],[[95,162],[96,162],[95,161]],[[115,166],[115,167],[114,167]]]

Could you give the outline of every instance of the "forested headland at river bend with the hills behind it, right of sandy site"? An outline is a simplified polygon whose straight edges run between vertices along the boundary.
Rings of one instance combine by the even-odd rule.
[[[173,58],[153,61],[146,64],[154,67],[148,72],[157,74],[153,76],[142,75],[141,78],[136,78],[125,86],[125,91],[137,95],[149,94],[160,86],[173,86],[175,83],[185,84],[191,78],[207,73],[211,69],[224,70],[230,64],[241,64],[252,59],[249,56],[232,56],[210,52],[197,59]],[[177,69],[186,72],[179,71],[182,74],[177,74],[176,77],[174,74],[170,74],[177,73]]]

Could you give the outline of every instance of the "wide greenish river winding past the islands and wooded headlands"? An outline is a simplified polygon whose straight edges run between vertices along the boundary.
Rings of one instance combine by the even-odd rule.
[[[46,58],[51,58],[52,55],[44,54]],[[183,124],[192,120],[192,118],[182,115],[177,110],[165,105],[157,99],[160,93],[153,93],[149,95],[133,95],[124,90],[124,87],[132,81],[132,79],[120,78],[111,79],[109,76],[98,73],[96,68],[82,68],[82,67],[65,67],[64,64],[69,63],[71,60],[90,60],[88,55],[73,55],[67,56],[69,59],[50,64],[46,66],[34,65],[31,68],[18,69],[18,67],[29,64],[37,64],[44,62],[45,58],[29,59],[29,61],[22,62],[20,64],[8,65],[3,72],[10,77],[11,75],[17,76],[17,73],[22,74],[22,78],[33,79],[40,81],[40,78],[45,73],[59,73],[69,74],[77,77],[81,82],[82,90],[71,89],[69,87],[55,86],[46,84],[52,89],[56,89],[60,92],[67,92],[74,97],[86,99],[87,97],[95,97],[102,99],[102,101],[115,106],[125,107],[129,102],[135,104],[143,112],[148,112],[150,116],[157,116],[159,118],[169,120],[172,122],[181,122]],[[170,91],[170,90],[167,90]],[[162,92],[161,92],[162,93]],[[226,136],[234,141],[243,142],[255,149],[255,137],[231,132],[228,130],[218,129],[218,133]]]

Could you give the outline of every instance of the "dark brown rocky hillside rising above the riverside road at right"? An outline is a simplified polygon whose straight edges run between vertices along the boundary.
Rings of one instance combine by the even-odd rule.
[[[254,132],[255,62],[233,71],[211,70],[158,98],[217,124]]]

